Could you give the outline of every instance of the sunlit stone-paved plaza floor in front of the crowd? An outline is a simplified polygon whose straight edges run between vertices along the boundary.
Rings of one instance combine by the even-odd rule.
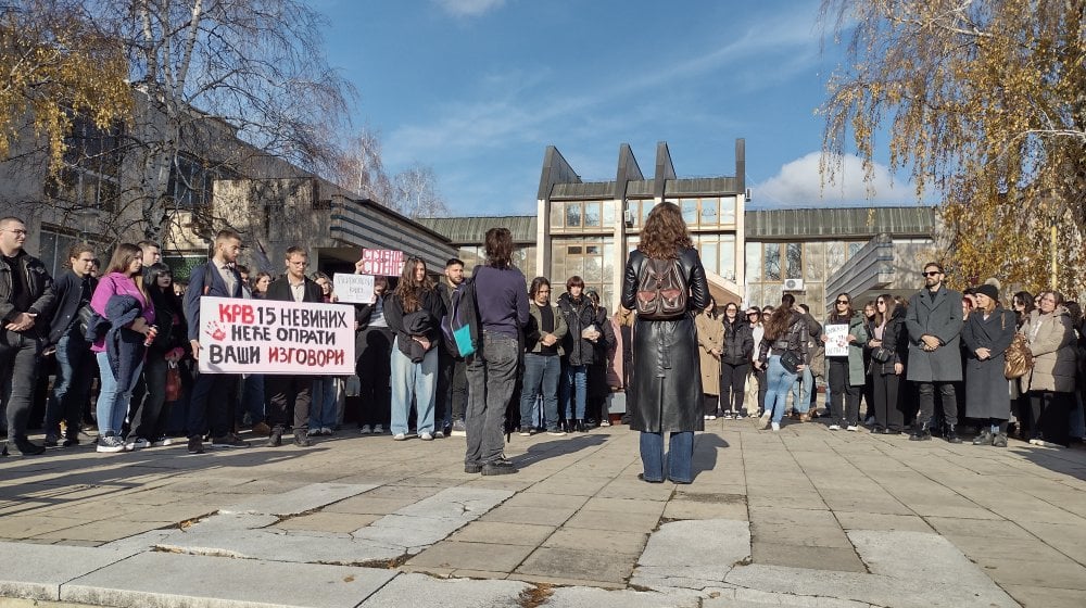
[[[1086,606],[1086,452],[707,422],[691,485],[627,427],[0,459],[0,606]]]

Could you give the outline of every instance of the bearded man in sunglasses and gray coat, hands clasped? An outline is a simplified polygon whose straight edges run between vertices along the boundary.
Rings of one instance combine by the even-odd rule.
[[[958,404],[954,382],[961,381],[961,292],[943,284],[946,275],[935,262],[924,265],[924,286],[909,299],[905,327],[909,330],[909,363],[907,379],[917,383],[920,416],[912,441],[932,439],[932,417],[935,415],[935,389],[946,418],[946,440],[961,443],[956,427]]]

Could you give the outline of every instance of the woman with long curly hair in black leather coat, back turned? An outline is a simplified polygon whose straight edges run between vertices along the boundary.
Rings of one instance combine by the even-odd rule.
[[[641,244],[627,261],[622,281],[622,305],[627,308],[637,308],[639,279],[651,258],[678,262],[689,297],[683,316],[668,320],[639,316],[633,327],[632,384],[637,406],[630,427],[641,431],[641,461],[645,472],[639,477],[652,483],[664,481],[664,433],[669,432],[668,479],[691,483],[694,431],[705,428],[694,313],[705,308],[709,301],[709,286],[682,212],[674,203],[653,208],[645,220]]]

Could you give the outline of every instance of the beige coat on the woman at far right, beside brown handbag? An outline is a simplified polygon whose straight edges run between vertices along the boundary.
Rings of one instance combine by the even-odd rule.
[[[1033,353],[1033,370],[1020,380],[1022,391],[1073,392],[1077,354],[1068,309],[1058,306],[1049,315],[1033,311],[1021,333]]]

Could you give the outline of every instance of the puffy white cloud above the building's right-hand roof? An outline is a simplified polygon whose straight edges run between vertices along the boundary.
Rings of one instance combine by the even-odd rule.
[[[759,207],[824,203],[907,204],[917,200],[912,185],[900,177],[892,179],[885,165],[875,163],[872,179],[864,181],[862,161],[854,154],[845,155],[834,181],[823,186],[819,175],[821,156],[821,152],[811,152],[785,164],[775,176],[753,186],[754,204]]]

